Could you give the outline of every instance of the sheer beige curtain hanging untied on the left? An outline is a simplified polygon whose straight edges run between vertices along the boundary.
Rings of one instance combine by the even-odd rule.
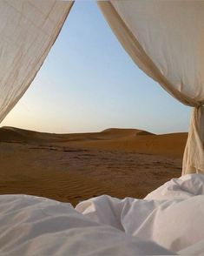
[[[23,96],[54,44],[71,1],[0,1],[0,122]]]

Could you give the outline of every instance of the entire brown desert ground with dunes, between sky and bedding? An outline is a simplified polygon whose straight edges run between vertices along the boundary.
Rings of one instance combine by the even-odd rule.
[[[136,129],[51,134],[0,129],[0,193],[43,196],[76,205],[102,194],[143,198],[181,176],[187,133]]]

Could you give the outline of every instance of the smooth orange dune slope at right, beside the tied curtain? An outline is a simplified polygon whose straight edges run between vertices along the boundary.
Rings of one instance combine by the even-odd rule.
[[[172,133],[163,135],[124,136],[108,138],[100,141],[86,142],[73,141],[69,145],[76,147],[95,148],[103,150],[137,152],[160,155],[172,158],[181,158],[186,145],[187,133]]]

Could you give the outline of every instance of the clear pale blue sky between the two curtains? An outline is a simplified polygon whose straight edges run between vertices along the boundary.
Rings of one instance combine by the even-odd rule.
[[[144,74],[94,1],[76,2],[43,67],[2,126],[56,133],[188,131],[191,109]]]

